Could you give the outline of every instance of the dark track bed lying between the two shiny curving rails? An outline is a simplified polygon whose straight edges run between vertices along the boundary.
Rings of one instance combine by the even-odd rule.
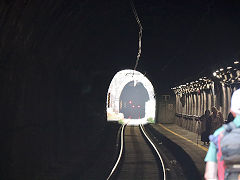
[[[125,152],[115,179],[160,179],[157,160],[139,127],[127,126],[124,138]]]

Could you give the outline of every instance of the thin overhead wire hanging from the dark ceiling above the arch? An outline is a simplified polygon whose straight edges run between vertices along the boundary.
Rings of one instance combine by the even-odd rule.
[[[133,14],[134,14],[135,19],[136,19],[136,21],[137,21],[137,23],[138,23],[138,26],[139,26],[139,33],[138,33],[138,34],[139,34],[139,38],[138,38],[138,54],[137,54],[136,64],[135,64],[135,66],[134,66],[134,70],[136,70],[136,69],[137,69],[137,66],[138,66],[138,61],[139,61],[139,59],[140,59],[141,52],[142,52],[142,30],[143,30],[143,28],[142,28],[142,24],[141,24],[141,22],[140,22],[140,20],[139,20],[139,18],[138,18],[138,14],[137,14],[137,11],[136,11],[136,9],[135,9],[135,6],[134,6],[133,1],[130,0],[130,3],[131,3],[131,7],[132,7]]]

